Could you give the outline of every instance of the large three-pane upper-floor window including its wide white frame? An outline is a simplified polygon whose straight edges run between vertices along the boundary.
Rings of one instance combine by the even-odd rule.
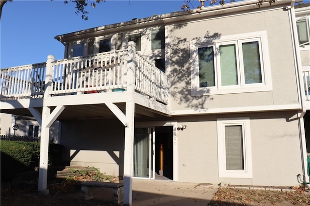
[[[271,90],[265,31],[190,42],[192,96]]]

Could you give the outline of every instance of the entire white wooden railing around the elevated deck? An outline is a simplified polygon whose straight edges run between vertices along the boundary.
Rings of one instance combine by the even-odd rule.
[[[87,57],[48,59],[47,63],[1,69],[1,100],[42,98],[127,90],[128,62],[136,63],[135,91],[167,104],[167,75],[135,50],[117,50]],[[52,56],[49,56],[52,57]]]

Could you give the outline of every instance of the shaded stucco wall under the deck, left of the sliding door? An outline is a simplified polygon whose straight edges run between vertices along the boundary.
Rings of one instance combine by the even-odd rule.
[[[94,166],[123,176],[124,125],[119,120],[63,121],[61,144],[70,165]]]

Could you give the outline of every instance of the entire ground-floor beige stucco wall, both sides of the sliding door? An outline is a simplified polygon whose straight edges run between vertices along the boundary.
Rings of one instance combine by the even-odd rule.
[[[265,112],[173,118],[177,125],[186,125],[176,136],[177,155],[173,161],[177,165],[173,170],[177,181],[297,185],[296,175],[302,174],[302,167],[295,114]],[[217,118],[250,119],[252,178],[219,178]],[[71,165],[95,166],[106,174],[123,176],[124,126],[118,120],[72,121],[62,125],[62,145],[68,150],[66,158]],[[152,122],[147,125],[152,126]]]

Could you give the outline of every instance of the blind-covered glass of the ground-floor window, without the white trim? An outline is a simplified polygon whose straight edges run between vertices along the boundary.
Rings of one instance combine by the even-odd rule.
[[[242,125],[225,126],[226,170],[244,170]]]

